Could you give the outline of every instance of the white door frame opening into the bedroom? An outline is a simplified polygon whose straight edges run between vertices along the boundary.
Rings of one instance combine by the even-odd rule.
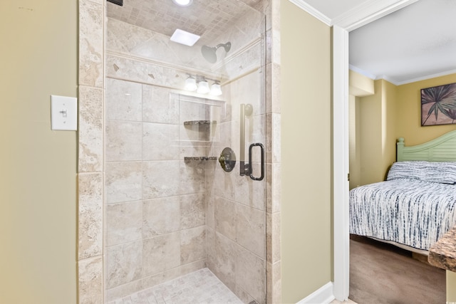
[[[333,295],[347,300],[350,285],[348,214],[348,33],[418,0],[366,1],[333,20]]]

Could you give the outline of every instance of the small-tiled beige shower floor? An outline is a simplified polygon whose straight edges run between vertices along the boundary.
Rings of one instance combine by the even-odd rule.
[[[231,290],[207,268],[141,290],[108,304],[239,303]]]

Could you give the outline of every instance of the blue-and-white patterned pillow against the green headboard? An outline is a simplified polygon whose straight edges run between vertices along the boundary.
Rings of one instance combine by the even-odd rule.
[[[418,179],[440,184],[456,183],[456,162],[426,162],[422,160],[395,162],[386,180]]]

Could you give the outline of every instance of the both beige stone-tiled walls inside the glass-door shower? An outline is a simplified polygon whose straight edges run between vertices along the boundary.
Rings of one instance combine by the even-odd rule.
[[[239,164],[227,173],[213,160],[183,160],[218,157],[224,147],[239,151],[239,103],[254,107],[246,142],[265,141],[264,72],[224,85],[224,101],[197,100],[173,93],[185,93],[179,91],[185,73],[138,60],[141,47],[127,43],[160,35],[112,19],[108,33],[108,77],[132,80],[106,83],[108,300],[208,266],[245,302],[265,303],[265,182],[239,177]],[[161,45],[167,43],[165,38]],[[259,67],[261,47],[257,43],[224,68],[242,74]],[[133,54],[120,53],[125,50]],[[193,130],[184,126],[186,120],[216,123]],[[212,137],[204,138],[205,132]],[[258,165],[255,172],[260,174]]]

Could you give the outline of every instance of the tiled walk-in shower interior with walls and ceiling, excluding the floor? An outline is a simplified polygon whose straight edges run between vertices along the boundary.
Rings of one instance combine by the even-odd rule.
[[[105,302],[207,268],[266,303],[263,1],[177,2],[106,5]]]

